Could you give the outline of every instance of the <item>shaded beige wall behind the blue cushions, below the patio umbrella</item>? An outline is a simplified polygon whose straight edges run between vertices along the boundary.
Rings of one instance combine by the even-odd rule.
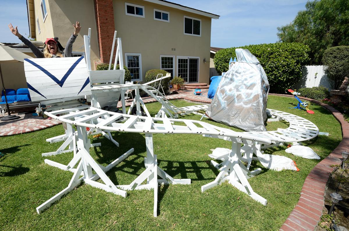
[[[33,53],[24,54],[34,57]],[[18,88],[28,87],[27,81],[25,80],[23,62],[1,63],[1,72],[6,89],[12,88],[16,90]],[[2,89],[1,81],[0,88]]]

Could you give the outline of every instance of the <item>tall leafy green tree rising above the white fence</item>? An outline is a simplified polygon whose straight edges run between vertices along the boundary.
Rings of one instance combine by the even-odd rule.
[[[278,27],[280,42],[298,42],[310,47],[311,63],[321,62],[325,50],[349,45],[349,1],[308,1],[294,21]]]

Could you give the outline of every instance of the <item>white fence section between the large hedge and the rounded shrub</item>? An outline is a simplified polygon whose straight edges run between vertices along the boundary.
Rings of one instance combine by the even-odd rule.
[[[323,65],[304,66],[302,78],[295,85],[295,89],[322,85],[331,90],[331,81],[327,78],[325,69],[326,66]]]

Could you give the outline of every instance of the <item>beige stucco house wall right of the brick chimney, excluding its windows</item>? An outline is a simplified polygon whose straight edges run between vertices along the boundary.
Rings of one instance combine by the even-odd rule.
[[[115,30],[122,39],[122,52],[141,53],[142,76],[147,70],[160,69],[160,55],[195,56],[199,57],[199,82],[209,82],[209,60],[211,39],[211,18],[181,11],[178,9],[157,5],[154,3],[132,0],[127,1],[144,6],[142,17],[125,14],[125,1],[114,0]],[[154,20],[154,8],[168,11],[170,22]],[[201,37],[184,34],[184,15],[201,19]],[[172,51],[176,48],[176,51]],[[177,75],[177,68],[175,69]]]

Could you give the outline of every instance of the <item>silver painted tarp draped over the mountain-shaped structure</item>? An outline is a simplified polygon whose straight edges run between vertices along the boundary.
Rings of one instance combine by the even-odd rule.
[[[250,51],[238,48],[235,53],[237,62],[222,77],[206,115],[245,131],[266,131],[267,75]]]

